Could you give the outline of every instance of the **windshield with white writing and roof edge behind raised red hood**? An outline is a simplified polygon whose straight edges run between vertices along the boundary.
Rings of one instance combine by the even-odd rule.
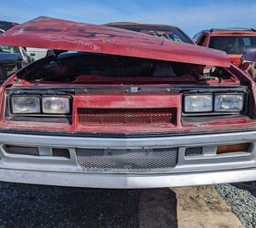
[[[194,44],[193,40],[177,26],[139,24],[133,22],[113,22],[105,24],[103,26],[119,27],[123,29],[132,30],[134,32],[145,33],[152,36],[160,36],[177,42]]]

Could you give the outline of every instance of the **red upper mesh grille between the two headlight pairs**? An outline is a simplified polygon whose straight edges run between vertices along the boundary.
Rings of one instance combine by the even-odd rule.
[[[175,109],[78,109],[82,125],[170,124]]]

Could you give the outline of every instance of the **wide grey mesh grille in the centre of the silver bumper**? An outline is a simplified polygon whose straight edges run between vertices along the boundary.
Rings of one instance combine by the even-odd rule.
[[[177,154],[178,148],[76,149],[77,161],[86,171],[163,171],[176,166]]]

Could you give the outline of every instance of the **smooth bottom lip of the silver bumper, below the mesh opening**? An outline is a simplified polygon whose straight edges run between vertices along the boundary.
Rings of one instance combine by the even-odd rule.
[[[139,189],[165,188],[255,181],[256,168],[232,171],[207,171],[165,175],[81,174],[50,171],[0,170],[0,180],[7,182],[46,184],[71,187]]]

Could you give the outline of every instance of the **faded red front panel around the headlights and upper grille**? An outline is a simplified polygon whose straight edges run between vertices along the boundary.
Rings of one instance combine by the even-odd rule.
[[[239,70],[231,68],[232,70]],[[255,83],[249,76],[244,74],[242,71],[236,71],[237,77],[243,79],[245,82],[251,84],[253,100],[252,104],[255,112],[255,97],[256,89]],[[5,86],[12,84],[12,80],[15,78],[9,78],[5,85],[2,86],[0,95],[0,106],[2,115],[0,119],[0,129],[4,130],[38,130],[38,131],[50,131],[50,132],[108,132],[108,133],[138,133],[138,132],[178,132],[178,131],[198,131],[198,130],[237,130],[244,129],[250,130],[255,128],[255,119],[251,119],[246,116],[242,117],[230,117],[230,118],[219,118],[219,119],[202,119],[197,117],[192,121],[181,119],[182,112],[182,94],[169,94],[169,93],[154,93],[154,94],[123,94],[122,92],[116,93],[83,93],[73,96],[72,105],[72,119],[70,123],[56,123],[56,122],[34,122],[29,121],[10,121],[5,120],[4,107],[5,107]],[[226,84],[228,86],[229,84]],[[32,85],[31,85],[32,86]],[[34,84],[33,87],[36,85]],[[41,85],[40,87],[42,87]],[[49,86],[49,85],[48,85]],[[52,84],[54,86],[54,84]],[[55,84],[56,86],[56,84]],[[219,85],[219,86],[223,86]],[[27,87],[27,85],[26,85]],[[74,86],[75,87],[75,86]],[[172,108],[176,109],[175,124],[163,124],[163,125],[131,125],[131,126],[115,126],[115,125],[91,125],[83,126],[78,120],[78,109],[89,108],[89,109],[138,109],[138,108]]]

